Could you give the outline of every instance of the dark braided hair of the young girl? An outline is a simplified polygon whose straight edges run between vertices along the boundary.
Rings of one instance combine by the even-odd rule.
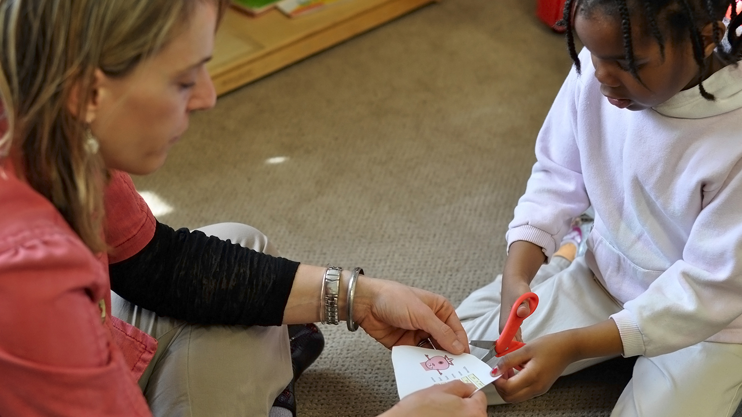
[[[674,42],[683,41],[683,39],[691,41],[693,57],[699,68],[698,87],[701,96],[707,100],[714,100],[715,97],[703,88],[703,74],[708,69],[708,64],[703,56],[703,37],[700,33],[700,25],[723,19],[726,11],[731,9],[731,19],[726,31],[726,41],[729,45],[719,47],[717,53],[726,64],[736,63],[742,59],[742,39],[737,35],[737,30],[742,25],[742,15],[737,14],[737,0],[566,0],[562,21],[559,24],[566,29],[567,49],[577,73],[580,73],[581,66],[574,44],[574,14],[588,13],[597,6],[620,18],[628,72],[637,81],[642,82],[637,73],[634,57],[631,16],[640,13],[640,10],[643,12],[644,24],[648,26],[645,29],[660,45],[663,58],[665,57],[666,38],[660,26],[669,29]],[[712,36],[715,44],[720,44],[723,33],[718,25],[714,25]]]

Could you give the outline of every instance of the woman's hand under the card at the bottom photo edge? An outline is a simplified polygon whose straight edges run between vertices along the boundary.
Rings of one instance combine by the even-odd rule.
[[[486,417],[487,398],[471,384],[453,381],[404,397],[379,417]],[[471,398],[469,398],[471,396]]]

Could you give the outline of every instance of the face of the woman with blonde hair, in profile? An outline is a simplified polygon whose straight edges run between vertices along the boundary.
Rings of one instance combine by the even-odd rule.
[[[216,8],[200,1],[180,34],[131,73],[111,78],[96,71],[88,122],[108,168],[154,172],[188,129],[191,112],[214,106],[206,62],[214,49],[216,21]]]

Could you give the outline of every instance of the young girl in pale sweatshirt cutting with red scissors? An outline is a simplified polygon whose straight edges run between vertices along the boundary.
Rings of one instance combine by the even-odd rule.
[[[567,1],[574,68],[536,141],[505,269],[457,310],[470,340],[496,340],[516,298],[540,298],[490,404],[538,396],[560,375],[623,355],[639,358],[613,416],[738,407],[742,67],[734,7],[724,24],[730,3]],[[539,271],[589,205],[585,256]]]

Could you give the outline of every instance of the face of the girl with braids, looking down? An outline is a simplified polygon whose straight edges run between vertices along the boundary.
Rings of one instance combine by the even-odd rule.
[[[635,20],[635,19],[634,19]],[[634,21],[633,44],[637,73],[643,84],[628,72],[620,19],[600,10],[576,13],[574,29],[590,51],[600,92],[616,107],[644,110],[667,101],[697,84],[698,65],[690,41],[674,44],[665,41],[665,57],[660,44],[640,33]]]

